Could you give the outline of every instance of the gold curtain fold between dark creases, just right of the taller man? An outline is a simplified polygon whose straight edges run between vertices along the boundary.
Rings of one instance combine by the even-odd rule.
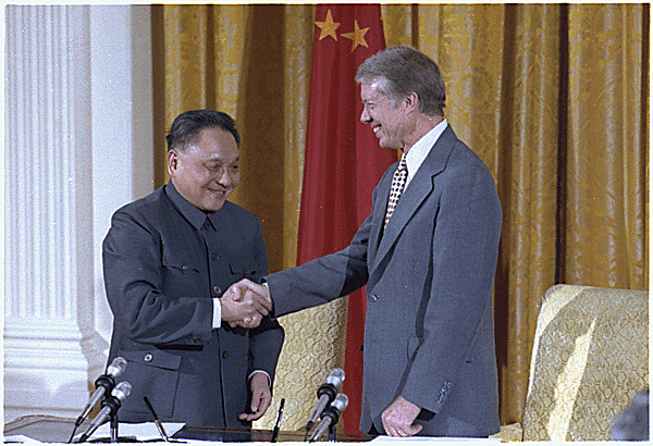
[[[539,298],[555,277],[558,139],[556,5],[507,10],[497,157],[504,212],[495,281],[503,419],[519,421],[526,398]],[[537,128],[538,132],[533,132]],[[510,182],[504,179],[510,178]],[[498,337],[501,336],[501,337]]]

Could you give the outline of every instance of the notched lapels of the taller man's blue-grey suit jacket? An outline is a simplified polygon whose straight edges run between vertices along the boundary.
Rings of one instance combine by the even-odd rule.
[[[451,126],[444,129],[440,138],[435,141],[435,145],[431,148],[431,151],[424,159],[423,163],[410,181],[410,184],[406,187],[402,194],[402,198],[395,208],[387,227],[379,241],[378,251],[373,255],[373,264],[371,273],[379,267],[383,258],[390,251],[390,248],[395,244],[397,237],[402,234],[406,224],[412,216],[412,214],[419,209],[421,203],[429,197],[433,191],[433,176],[441,173],[445,165],[446,160],[449,157],[454,144],[457,137]],[[392,176],[391,176],[392,179]],[[390,194],[391,182],[386,182],[383,189],[380,190],[380,197],[387,200]],[[379,227],[383,226],[383,219],[385,213],[385,206],[378,207],[381,210],[374,213],[374,221],[379,222]],[[379,240],[378,237],[373,238],[374,241]]]

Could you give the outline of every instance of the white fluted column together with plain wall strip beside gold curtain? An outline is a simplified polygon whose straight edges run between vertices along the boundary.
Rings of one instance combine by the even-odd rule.
[[[76,418],[111,330],[99,244],[151,190],[149,7],[4,13],[3,418]]]

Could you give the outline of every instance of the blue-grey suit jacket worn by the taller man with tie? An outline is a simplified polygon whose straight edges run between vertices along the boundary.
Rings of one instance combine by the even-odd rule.
[[[382,234],[392,165],[344,250],[266,277],[275,315],[367,284],[361,432],[399,395],[420,435],[498,432],[492,290],[501,205],[485,164],[447,126]]]

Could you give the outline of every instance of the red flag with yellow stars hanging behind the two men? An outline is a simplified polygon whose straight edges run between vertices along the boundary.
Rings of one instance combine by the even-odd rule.
[[[319,4],[316,11],[297,264],[345,248],[370,214],[372,191],[397,160],[360,122],[356,71],[385,48],[379,4]],[[349,296],[345,433],[359,433],[366,300]],[[326,371],[325,371],[326,372]]]

